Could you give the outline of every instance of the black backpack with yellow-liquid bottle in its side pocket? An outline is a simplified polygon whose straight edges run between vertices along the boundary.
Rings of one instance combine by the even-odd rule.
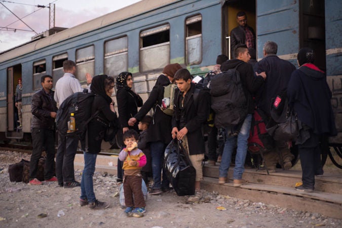
[[[87,92],[78,92],[68,96],[60,105],[57,111],[56,127],[62,135],[77,136],[81,142],[85,141],[88,123],[95,115],[91,115],[91,107],[95,94]],[[74,113],[75,131],[67,133],[70,113]],[[97,113],[95,113],[97,114]]]

